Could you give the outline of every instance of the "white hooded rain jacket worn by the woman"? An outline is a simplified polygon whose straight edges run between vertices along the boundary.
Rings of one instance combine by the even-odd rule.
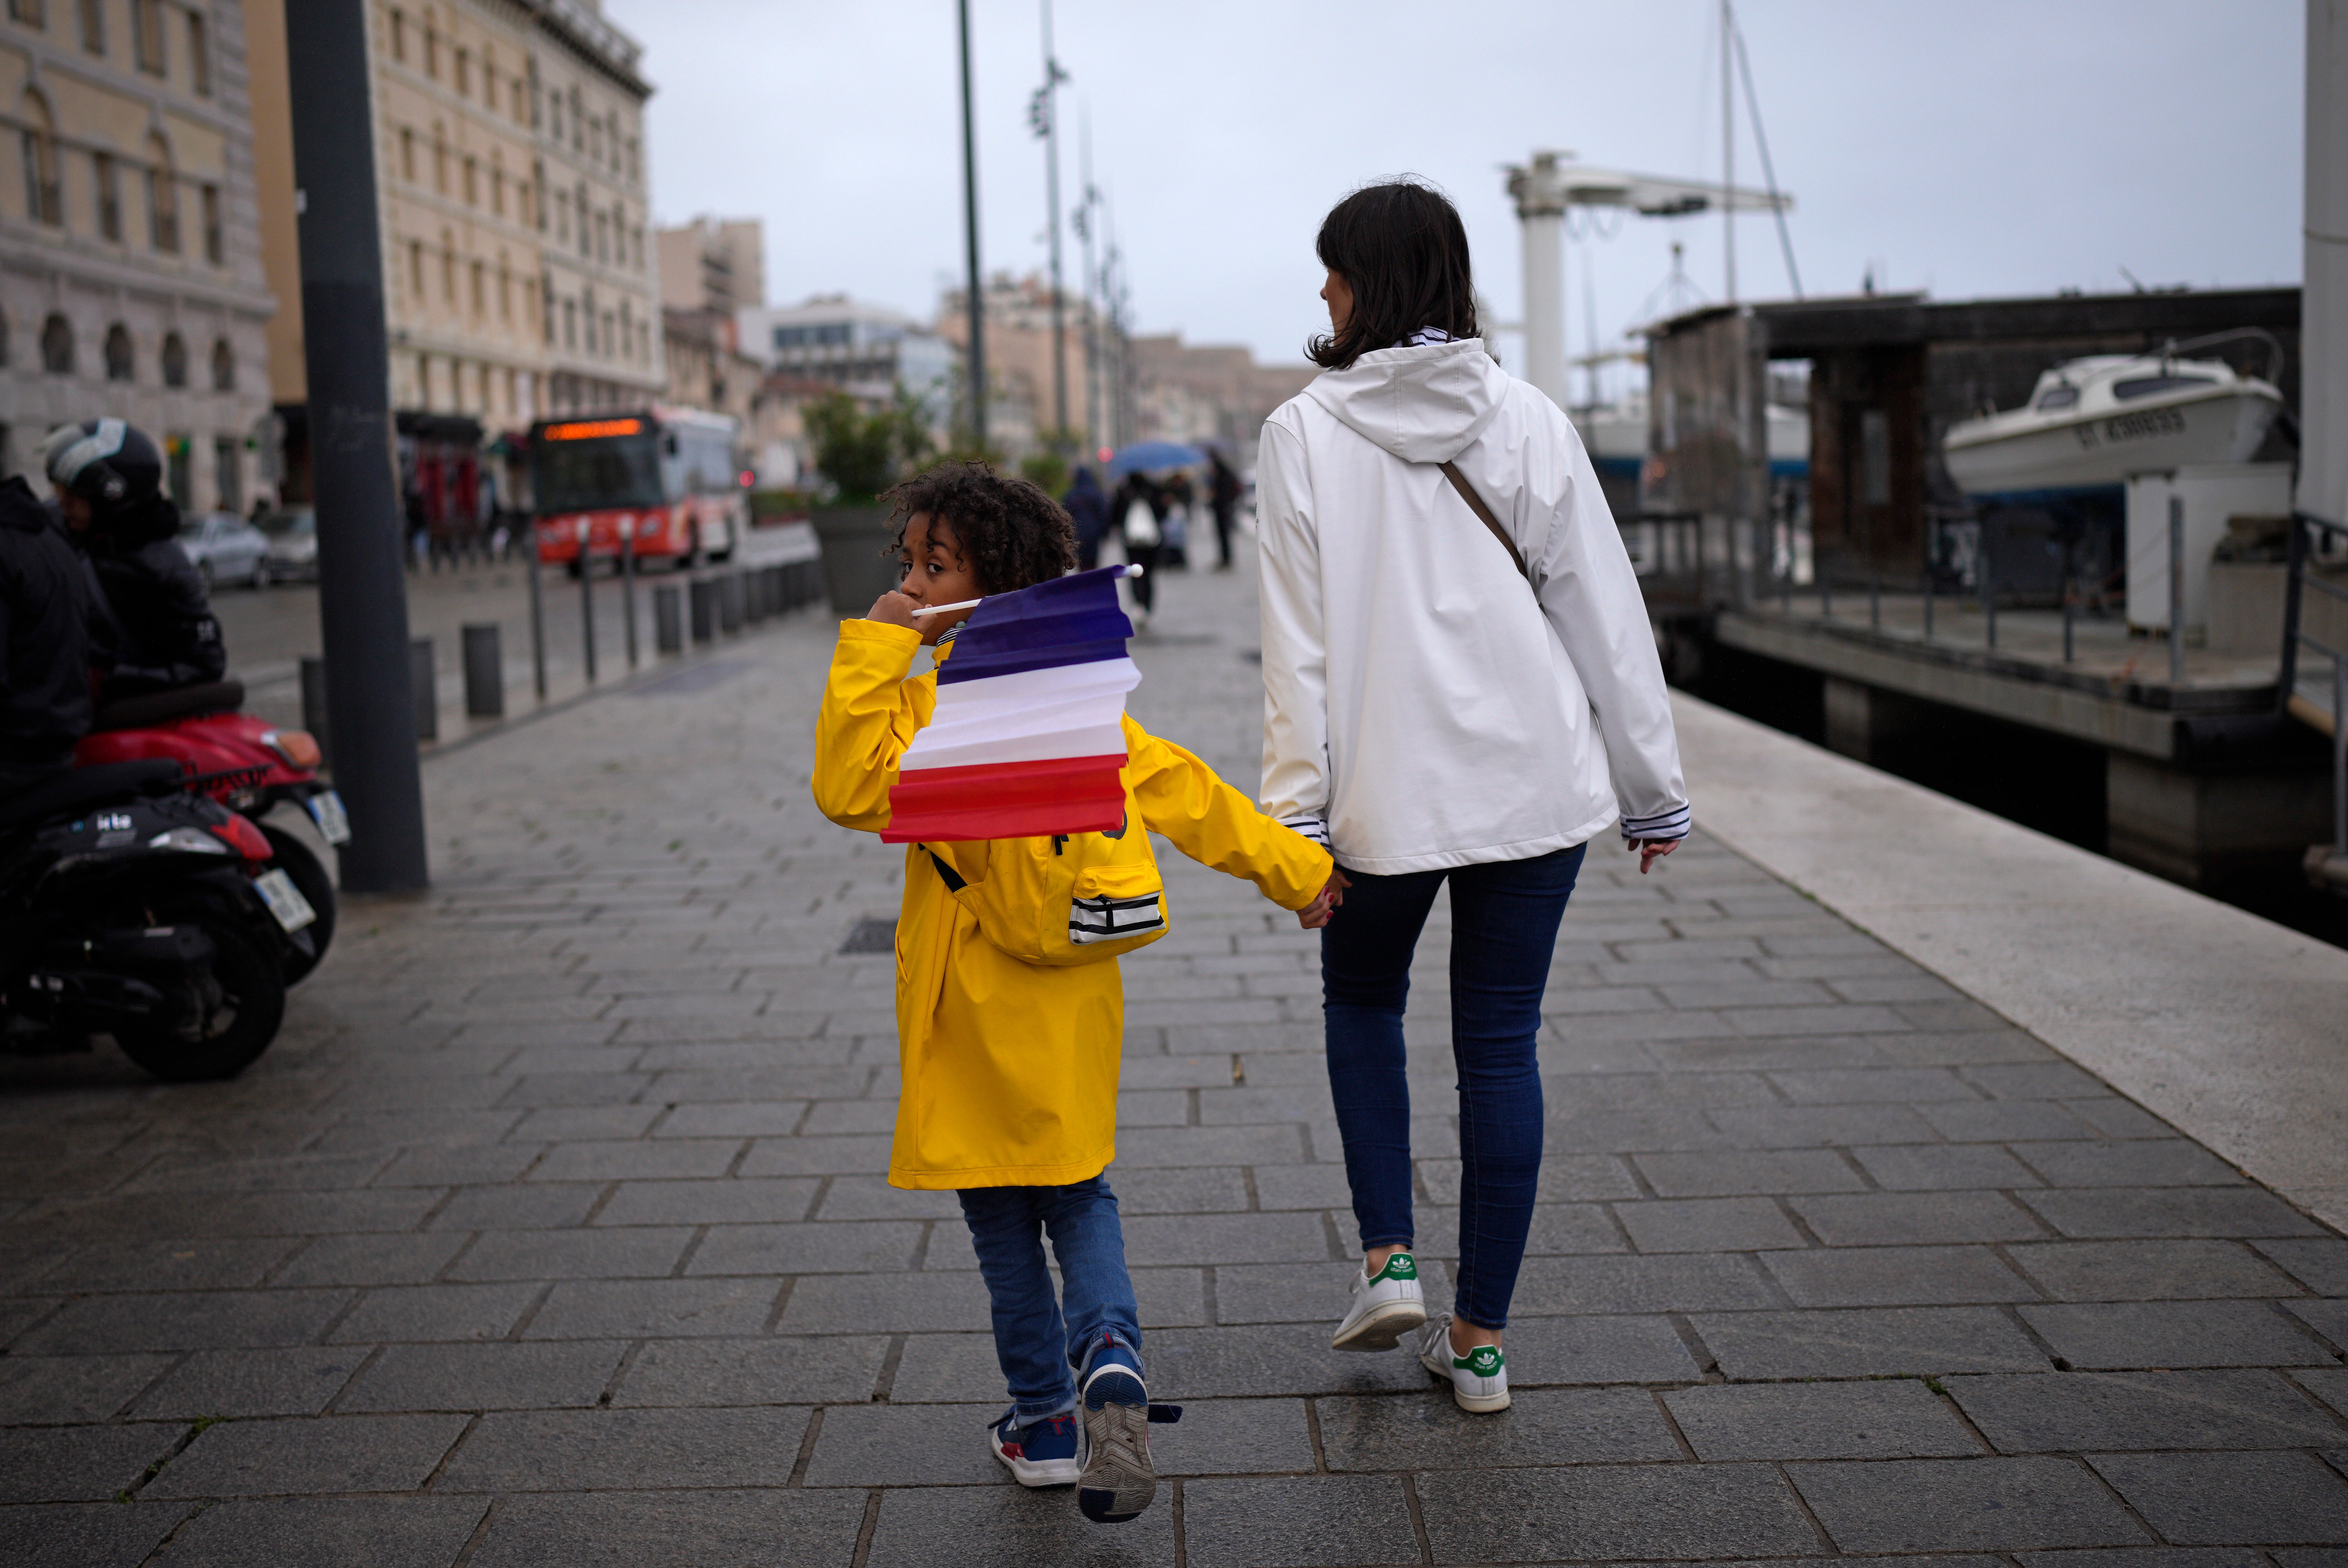
[[[1266,815],[1374,876],[1529,859],[1615,819],[1688,833],[1662,662],[1590,453],[1482,340],[1315,378],[1263,425],[1256,512]]]

